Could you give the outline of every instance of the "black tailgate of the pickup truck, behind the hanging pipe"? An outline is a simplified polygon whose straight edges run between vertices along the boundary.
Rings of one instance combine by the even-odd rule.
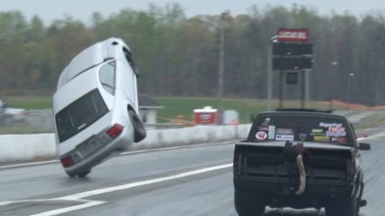
[[[296,164],[285,159],[285,142],[241,142],[235,148],[235,178],[270,183],[299,181]],[[303,162],[308,184],[343,185],[350,178],[352,148],[304,143]]]

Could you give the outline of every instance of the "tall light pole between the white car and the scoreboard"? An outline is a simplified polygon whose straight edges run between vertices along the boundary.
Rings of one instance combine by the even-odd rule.
[[[227,10],[221,14],[220,18],[220,59],[218,63],[218,123],[222,124],[222,98],[223,98],[223,74],[224,74],[224,22],[225,17],[230,14],[230,11]]]

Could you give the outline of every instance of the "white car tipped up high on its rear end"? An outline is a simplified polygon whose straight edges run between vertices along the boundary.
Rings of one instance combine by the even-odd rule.
[[[57,152],[65,172],[85,177],[146,137],[138,117],[138,70],[121,39],[97,42],[61,72],[53,95]]]

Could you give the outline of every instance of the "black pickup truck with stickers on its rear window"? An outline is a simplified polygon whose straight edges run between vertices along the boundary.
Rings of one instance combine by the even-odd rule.
[[[235,145],[234,204],[239,216],[265,208],[325,208],[327,216],[357,216],[364,187],[360,150],[346,117],[316,110],[260,113]]]

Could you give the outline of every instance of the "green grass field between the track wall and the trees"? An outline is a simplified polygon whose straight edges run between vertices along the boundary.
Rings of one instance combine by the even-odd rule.
[[[42,96],[2,96],[2,99],[9,108],[46,109],[52,108],[52,97]],[[211,106],[219,107],[217,98],[196,98],[196,97],[155,97],[164,108],[158,110],[159,122],[170,122],[178,117],[186,121],[192,121],[193,109]],[[300,108],[300,101],[284,101],[285,108]],[[278,101],[271,101],[271,109],[278,107]],[[265,99],[222,99],[222,108],[235,109],[239,112],[239,123],[249,123],[252,116],[261,111],[268,110]],[[309,102],[306,108],[328,109],[327,105],[320,105],[316,102]],[[335,107],[334,107],[335,108]],[[341,108],[337,108],[341,109]]]

